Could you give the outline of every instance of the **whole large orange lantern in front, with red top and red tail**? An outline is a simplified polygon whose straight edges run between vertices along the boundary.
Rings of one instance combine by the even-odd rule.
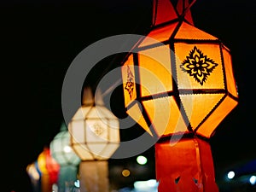
[[[209,139],[238,104],[230,50],[194,26],[193,3],[154,0],[122,62],[126,113],[156,139],[159,192],[218,191]]]

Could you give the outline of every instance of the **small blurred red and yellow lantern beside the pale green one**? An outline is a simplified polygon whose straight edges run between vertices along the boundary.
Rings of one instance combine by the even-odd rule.
[[[40,174],[40,191],[52,191],[52,187],[58,182],[58,175],[60,172],[60,165],[50,155],[49,147],[44,147],[41,154],[38,155],[38,169]]]

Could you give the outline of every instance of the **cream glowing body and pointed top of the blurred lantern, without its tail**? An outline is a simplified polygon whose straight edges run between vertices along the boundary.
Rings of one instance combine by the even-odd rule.
[[[101,93],[95,100],[84,88],[83,105],[68,124],[71,146],[81,160],[108,160],[119,148],[119,119],[104,106]]]

